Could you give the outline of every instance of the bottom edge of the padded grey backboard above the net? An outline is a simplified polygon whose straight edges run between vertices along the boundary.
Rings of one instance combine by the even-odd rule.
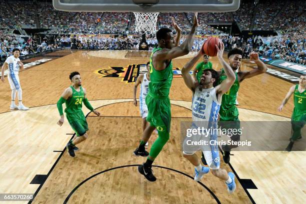
[[[57,10],[88,12],[229,12],[240,0],[53,0]]]

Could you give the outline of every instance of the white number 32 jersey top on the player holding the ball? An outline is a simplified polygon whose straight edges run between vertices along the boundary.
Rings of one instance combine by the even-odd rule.
[[[200,90],[200,86],[197,86],[192,98],[191,108],[192,121],[206,121],[200,122],[200,126],[204,128],[215,127],[220,110],[215,88],[202,88]]]

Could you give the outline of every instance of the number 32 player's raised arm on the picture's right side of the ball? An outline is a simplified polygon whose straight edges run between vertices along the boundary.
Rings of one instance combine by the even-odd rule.
[[[217,57],[221,63],[221,65],[224,67],[224,71],[226,74],[226,79],[223,80],[219,85],[217,85],[215,87],[216,92],[219,94],[223,94],[226,91],[229,90],[229,88],[231,87],[231,85],[233,84],[233,82],[235,81],[235,73],[233,72],[232,68],[230,67],[230,65],[228,63],[226,63],[226,61],[223,59],[223,52],[224,52],[224,44],[222,41],[219,41],[220,43],[220,48],[215,45],[216,49],[218,50],[217,52]]]

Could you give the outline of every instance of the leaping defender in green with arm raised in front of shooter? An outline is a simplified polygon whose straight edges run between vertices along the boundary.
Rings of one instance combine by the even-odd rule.
[[[151,146],[146,162],[138,166],[138,171],[149,181],[156,180],[151,170],[152,163],[169,139],[171,112],[168,95],[173,78],[171,59],[188,54],[191,50],[195,29],[198,26],[196,14],[194,13],[189,35],[179,46],[175,46],[171,29],[163,27],[156,32],[158,45],[151,53],[149,91],[145,97],[148,109],[146,120],[150,125],[143,131],[140,144],[133,152],[135,155],[147,155],[144,145],[156,127],[158,137]]]

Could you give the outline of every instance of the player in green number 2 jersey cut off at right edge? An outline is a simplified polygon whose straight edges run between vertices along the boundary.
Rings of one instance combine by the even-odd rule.
[[[281,111],[290,96],[293,94],[294,108],[291,115],[292,135],[290,143],[286,147],[287,151],[291,151],[295,140],[301,139],[300,130],[306,123],[306,74],[301,75],[298,82],[298,84],[290,87],[285,98],[277,108],[278,111]]]

